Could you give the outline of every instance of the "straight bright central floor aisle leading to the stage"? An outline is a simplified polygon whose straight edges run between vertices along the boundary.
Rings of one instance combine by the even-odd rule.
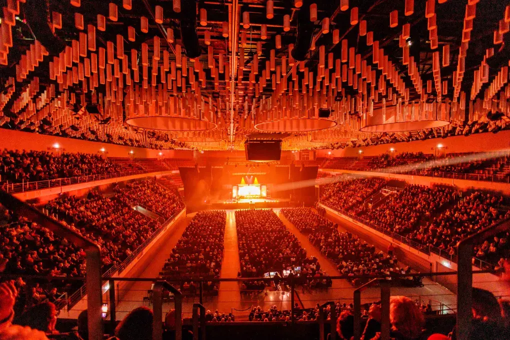
[[[223,252],[220,278],[236,278],[237,272],[239,271],[239,249],[234,210],[226,211],[225,235],[223,240],[225,250]],[[230,312],[231,308],[239,309],[240,303],[241,293],[239,290],[239,283],[234,281],[221,282],[218,292],[217,309],[220,312]]]

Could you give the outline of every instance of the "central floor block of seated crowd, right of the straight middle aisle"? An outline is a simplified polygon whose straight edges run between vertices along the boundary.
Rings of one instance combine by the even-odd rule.
[[[301,268],[300,277],[313,280],[323,275],[317,258],[307,256],[272,209],[237,210],[236,227],[241,261],[238,276],[264,277],[277,272],[281,277],[283,270],[294,272],[296,267]]]

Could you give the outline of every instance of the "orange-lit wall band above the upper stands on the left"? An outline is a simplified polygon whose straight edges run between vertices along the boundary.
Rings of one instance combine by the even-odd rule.
[[[55,143],[66,152],[98,153],[105,148],[109,157],[127,157],[131,150],[137,158],[158,158],[160,150],[134,148],[129,146],[89,142],[78,139],[40,135],[29,132],[0,128],[0,148],[9,150],[42,150],[52,148]],[[189,150],[161,150],[164,158],[193,158],[193,151]]]

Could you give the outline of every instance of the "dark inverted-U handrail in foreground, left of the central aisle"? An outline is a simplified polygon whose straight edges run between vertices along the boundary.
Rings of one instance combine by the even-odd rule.
[[[167,281],[156,281],[152,288],[152,307],[154,318],[152,320],[152,339],[163,339],[163,289],[172,293],[175,301],[175,340],[182,340],[183,337],[183,294]]]

